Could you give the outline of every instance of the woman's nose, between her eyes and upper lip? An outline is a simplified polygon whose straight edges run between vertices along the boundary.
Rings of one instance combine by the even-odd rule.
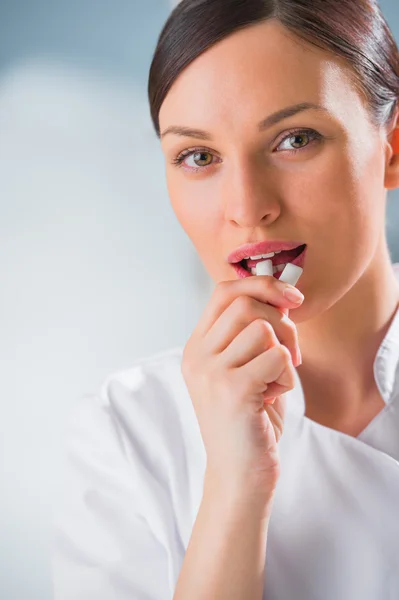
[[[270,178],[266,180],[265,169],[247,163],[236,164],[232,171],[225,173],[221,183],[225,220],[253,228],[278,219],[281,205]]]

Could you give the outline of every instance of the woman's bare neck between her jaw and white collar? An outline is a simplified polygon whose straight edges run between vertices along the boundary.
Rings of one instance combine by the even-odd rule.
[[[380,246],[378,260],[343,298],[297,325],[306,415],[323,424],[349,424],[370,410],[371,402],[383,404],[373,364],[398,309],[399,283],[385,240]]]

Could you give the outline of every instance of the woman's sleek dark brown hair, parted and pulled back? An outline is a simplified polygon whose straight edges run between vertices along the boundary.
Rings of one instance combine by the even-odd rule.
[[[272,18],[346,59],[372,123],[388,126],[399,98],[399,51],[377,0],[182,0],[159,35],[149,72],[158,137],[160,108],[181,71],[231,33]]]

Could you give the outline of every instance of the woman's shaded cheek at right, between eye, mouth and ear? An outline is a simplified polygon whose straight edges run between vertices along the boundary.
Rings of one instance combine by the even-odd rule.
[[[319,292],[350,287],[374,255],[384,222],[383,169],[375,152],[360,160],[341,148],[325,153],[311,178],[296,173],[285,188],[292,218],[314,249],[308,265]]]

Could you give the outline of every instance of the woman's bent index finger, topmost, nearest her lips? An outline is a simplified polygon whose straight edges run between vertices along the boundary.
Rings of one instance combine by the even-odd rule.
[[[284,296],[286,289],[295,290],[296,288],[270,275],[222,281],[218,283],[213,291],[212,297],[199,319],[193,334],[204,337],[215,321],[238,296],[250,296],[259,302],[271,304],[276,308],[284,310],[285,314],[288,314],[288,310],[297,308],[302,301],[295,303],[286,298]]]

